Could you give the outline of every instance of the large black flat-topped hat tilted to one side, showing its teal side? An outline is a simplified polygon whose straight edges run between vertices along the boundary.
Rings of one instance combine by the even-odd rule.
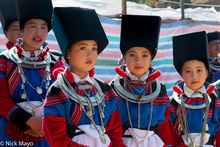
[[[64,57],[67,47],[76,41],[95,40],[98,44],[98,54],[108,45],[108,39],[94,9],[56,7],[52,21]]]

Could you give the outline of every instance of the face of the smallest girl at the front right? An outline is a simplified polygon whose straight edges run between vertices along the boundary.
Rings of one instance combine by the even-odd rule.
[[[184,63],[181,76],[187,87],[193,91],[197,91],[205,83],[208,71],[203,62],[189,60]]]

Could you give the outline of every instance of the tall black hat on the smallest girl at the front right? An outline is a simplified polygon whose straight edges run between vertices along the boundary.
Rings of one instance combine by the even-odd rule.
[[[208,41],[205,31],[173,37],[173,64],[180,74],[184,62],[188,60],[202,61],[209,69]]]

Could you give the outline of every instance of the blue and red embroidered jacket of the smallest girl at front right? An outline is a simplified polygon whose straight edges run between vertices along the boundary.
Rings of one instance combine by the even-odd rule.
[[[177,86],[184,92],[184,82],[180,81],[177,83]],[[205,88],[208,87],[208,84],[204,84]],[[184,97],[186,98],[185,104],[198,106],[205,103],[205,100],[203,97],[187,97],[184,92]],[[215,144],[215,136],[217,134],[217,131],[219,129],[219,116],[220,116],[220,100],[219,96],[216,95],[216,92],[213,92],[210,94],[211,103],[208,110],[208,131],[205,133],[210,134],[210,138],[207,144]],[[170,106],[170,121],[173,124],[173,126],[178,126],[180,122],[177,122],[177,116],[180,115],[178,113],[179,109],[179,103],[176,102],[175,99],[171,100],[171,106]],[[187,115],[187,124],[188,124],[188,133],[201,133],[203,128],[203,115],[204,115],[204,109],[189,109],[185,108],[186,115]],[[181,117],[181,116],[180,116]],[[181,135],[183,135],[183,132],[180,131],[178,133],[178,127],[174,128],[175,130],[175,137],[177,141],[177,145],[184,145]]]

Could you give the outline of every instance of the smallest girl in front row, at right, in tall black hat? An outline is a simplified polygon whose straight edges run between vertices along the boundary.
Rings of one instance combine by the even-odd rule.
[[[206,33],[196,32],[173,37],[174,66],[183,81],[174,86],[170,121],[177,146],[215,145],[219,129],[220,100],[215,86],[205,83],[208,76]]]

